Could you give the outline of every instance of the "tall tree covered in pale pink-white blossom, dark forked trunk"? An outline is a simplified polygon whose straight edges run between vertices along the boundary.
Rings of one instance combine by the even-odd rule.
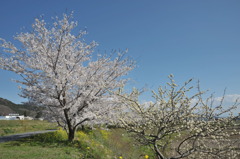
[[[1,69],[22,77],[16,80],[21,95],[46,106],[48,115],[66,128],[69,141],[79,125],[110,110],[109,101],[116,97],[108,90],[122,87],[127,81],[122,77],[134,68],[126,51],[94,54],[97,43],[86,43],[86,32],[76,33],[72,19],[64,14],[47,24],[37,18],[31,32],[15,36],[21,48],[4,39],[0,44]]]

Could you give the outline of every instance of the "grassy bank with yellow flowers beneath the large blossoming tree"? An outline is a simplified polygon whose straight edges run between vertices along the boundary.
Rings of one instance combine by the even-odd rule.
[[[73,143],[58,130],[0,144],[4,159],[144,159],[145,155],[155,158],[149,147],[137,145],[122,129],[78,131]]]

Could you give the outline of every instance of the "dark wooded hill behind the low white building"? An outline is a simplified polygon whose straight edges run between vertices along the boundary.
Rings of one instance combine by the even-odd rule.
[[[15,104],[7,99],[0,98],[0,116],[8,114],[20,114],[35,117],[41,114],[42,107],[30,103]]]

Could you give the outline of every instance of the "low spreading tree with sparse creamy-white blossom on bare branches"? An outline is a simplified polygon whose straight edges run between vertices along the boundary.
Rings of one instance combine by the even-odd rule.
[[[237,102],[224,109],[222,98],[214,107],[213,96],[204,101],[200,89],[187,96],[191,80],[179,87],[172,75],[169,78],[168,86],[153,91],[154,102],[140,104],[137,90],[119,95],[129,108],[121,126],[141,144],[150,145],[158,159],[239,157],[239,125],[232,114]]]

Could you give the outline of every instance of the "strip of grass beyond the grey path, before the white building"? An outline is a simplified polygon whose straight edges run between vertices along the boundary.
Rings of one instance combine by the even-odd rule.
[[[0,120],[0,136],[56,128],[56,123],[49,123],[47,121]]]

